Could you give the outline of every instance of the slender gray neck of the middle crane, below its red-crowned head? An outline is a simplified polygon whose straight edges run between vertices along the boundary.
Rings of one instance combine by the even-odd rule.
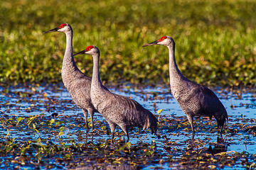
[[[100,60],[100,52],[93,54],[93,70],[92,70],[92,86],[102,86],[102,82],[100,81],[100,71],[99,71],[99,60]]]

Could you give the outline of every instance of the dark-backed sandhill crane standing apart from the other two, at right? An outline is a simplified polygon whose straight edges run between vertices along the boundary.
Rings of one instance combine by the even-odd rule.
[[[219,98],[206,86],[196,84],[193,81],[183,77],[177,67],[175,60],[175,42],[169,36],[164,36],[159,40],[145,44],[149,45],[166,45],[169,49],[169,76],[171,85],[171,94],[178,101],[182,111],[186,114],[193,134],[193,117],[194,116],[212,116],[215,117],[220,128],[220,134],[223,130],[225,120],[228,121],[228,113]],[[193,137],[192,137],[193,138]]]

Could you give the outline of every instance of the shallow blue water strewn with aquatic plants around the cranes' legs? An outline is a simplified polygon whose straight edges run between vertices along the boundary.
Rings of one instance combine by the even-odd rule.
[[[134,128],[125,143],[118,129],[112,141],[100,114],[95,115],[95,130],[86,133],[82,112],[62,87],[0,87],[0,168],[256,168],[255,91],[233,90],[232,96],[226,89],[218,91],[230,115],[223,137],[214,120],[200,118],[192,141],[186,116],[168,88],[127,84],[117,89],[111,88],[132,96],[159,118],[157,136]]]

